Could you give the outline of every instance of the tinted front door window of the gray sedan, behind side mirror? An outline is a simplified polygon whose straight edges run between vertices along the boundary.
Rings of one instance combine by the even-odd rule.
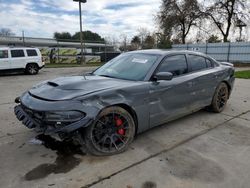
[[[188,66],[185,55],[166,57],[157,72],[171,72],[174,76],[186,74],[188,72]]]

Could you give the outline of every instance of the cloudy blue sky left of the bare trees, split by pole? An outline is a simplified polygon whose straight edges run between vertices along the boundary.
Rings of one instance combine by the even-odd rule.
[[[155,15],[161,0],[87,0],[83,30],[103,37],[133,36],[138,28],[157,30]],[[0,28],[17,36],[53,37],[54,32],[79,31],[78,3],[73,0],[0,0]]]

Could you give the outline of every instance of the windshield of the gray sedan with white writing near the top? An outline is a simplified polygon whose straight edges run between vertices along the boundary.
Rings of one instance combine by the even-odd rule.
[[[109,61],[93,74],[111,78],[142,81],[159,58],[150,54],[122,54]]]

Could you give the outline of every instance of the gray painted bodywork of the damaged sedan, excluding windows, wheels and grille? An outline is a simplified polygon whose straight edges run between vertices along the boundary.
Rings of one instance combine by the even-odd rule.
[[[201,53],[162,50],[129,53],[158,54],[160,58],[143,81],[95,75],[62,77],[35,86],[20,97],[20,102],[35,111],[82,111],[86,113],[85,119],[92,121],[102,109],[122,105],[133,112],[140,133],[210,105],[216,87],[223,81],[233,87],[233,67],[219,64]],[[200,55],[211,59],[216,66],[171,81],[153,81],[154,71],[161,61],[175,54]]]

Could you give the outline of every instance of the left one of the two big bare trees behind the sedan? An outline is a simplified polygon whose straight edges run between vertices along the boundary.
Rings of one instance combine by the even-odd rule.
[[[165,35],[175,32],[185,44],[191,27],[201,16],[197,0],[162,0],[157,20]]]

